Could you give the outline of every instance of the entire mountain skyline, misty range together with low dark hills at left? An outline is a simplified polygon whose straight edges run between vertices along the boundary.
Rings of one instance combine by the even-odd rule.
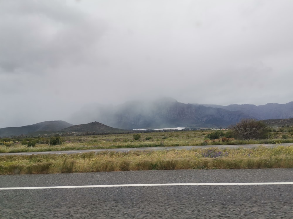
[[[0,136],[54,132],[125,133],[137,128],[225,128],[245,118],[264,120],[269,126],[291,125],[293,121],[288,119],[293,118],[293,102],[222,106],[185,104],[172,98],[162,98],[155,101],[130,101],[117,106],[87,105],[70,119],[82,125],[45,121],[30,126],[0,128]]]

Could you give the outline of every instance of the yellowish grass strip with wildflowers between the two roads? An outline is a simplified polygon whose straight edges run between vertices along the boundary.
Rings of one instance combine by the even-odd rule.
[[[293,168],[293,146],[0,157],[0,174],[240,168]]]

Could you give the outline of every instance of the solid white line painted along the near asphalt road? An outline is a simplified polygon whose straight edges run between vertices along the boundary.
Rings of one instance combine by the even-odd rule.
[[[175,185],[292,185],[293,182],[279,183],[160,183],[160,184],[118,184],[118,185],[73,185],[73,186],[43,186],[43,187],[4,187],[0,190],[20,190],[20,189],[72,189],[72,188],[101,188],[101,187],[133,187],[133,186],[175,186]]]

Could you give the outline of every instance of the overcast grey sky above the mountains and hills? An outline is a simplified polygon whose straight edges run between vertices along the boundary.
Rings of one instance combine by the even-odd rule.
[[[291,0],[0,0],[0,128],[165,96],[290,102],[292,9]]]

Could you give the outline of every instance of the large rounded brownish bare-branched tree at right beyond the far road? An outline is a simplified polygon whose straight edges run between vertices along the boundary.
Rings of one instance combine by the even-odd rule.
[[[242,119],[236,125],[231,126],[232,133],[238,139],[265,138],[268,133],[266,124],[256,119]]]

